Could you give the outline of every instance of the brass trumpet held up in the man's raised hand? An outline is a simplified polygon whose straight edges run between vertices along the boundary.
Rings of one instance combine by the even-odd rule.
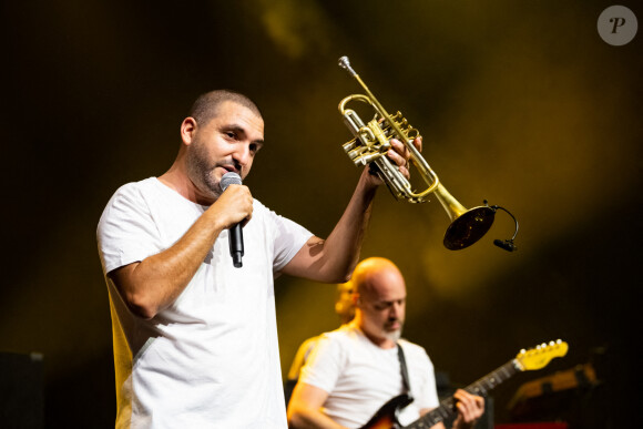
[[[438,175],[416,149],[414,140],[420,136],[418,130],[411,126],[401,112],[398,111],[390,115],[384,109],[355,70],[353,70],[348,57],[339,59],[339,67],[348,71],[365,92],[365,94],[348,95],[339,102],[339,113],[341,113],[344,123],[355,137],[345,143],[343,147],[355,165],[370,165],[371,171],[375,171],[398,200],[404,198],[409,203],[423,203],[429,200],[431,194],[435,194],[451,221],[443,239],[445,247],[448,249],[458,251],[479,241],[493,224],[496,211],[504,208],[489,206],[487,201],[484,201],[484,205],[470,210],[462,206],[440,183]],[[347,108],[348,103],[354,101],[369,104],[375,110],[374,119],[365,124],[353,109]],[[398,166],[394,165],[386,156],[392,139],[399,140],[408,149],[410,162],[427,185],[425,190],[414,191],[410,182],[399,172]],[[509,213],[507,210],[504,211]],[[511,215],[511,213],[509,214]],[[516,218],[513,219],[516,221]],[[518,222],[516,226],[518,232]],[[516,234],[513,235],[514,237]],[[506,249],[511,247],[511,251],[513,251],[516,248],[513,238],[504,241],[503,246],[496,244]]]

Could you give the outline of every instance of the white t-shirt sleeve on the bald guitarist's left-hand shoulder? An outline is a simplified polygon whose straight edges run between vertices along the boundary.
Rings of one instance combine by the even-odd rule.
[[[302,368],[299,381],[331,392],[344,368],[343,347],[337,338],[323,335],[306,365]]]

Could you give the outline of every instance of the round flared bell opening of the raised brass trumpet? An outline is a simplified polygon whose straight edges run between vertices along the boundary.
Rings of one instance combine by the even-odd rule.
[[[469,247],[480,238],[493,224],[496,210],[488,206],[473,207],[458,216],[445,233],[445,247],[459,251]]]

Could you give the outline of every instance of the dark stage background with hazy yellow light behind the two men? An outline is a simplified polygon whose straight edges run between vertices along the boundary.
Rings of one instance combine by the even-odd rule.
[[[643,18],[641,2],[618,3]],[[360,92],[337,67],[344,54],[420,130],[426,159],[460,203],[487,198],[520,222],[516,253],[492,245],[513,233],[502,212],[478,244],[450,252],[437,202],[380,190],[363,256],[405,273],[405,336],[452,386],[562,338],[565,358],[493,392],[496,422],[512,419],[507,405],[521,384],[592,362],[600,386],[572,389],[539,416],[631,426],[641,400],[632,347],[643,39],[613,47],[599,37],[611,4],[3,2],[0,350],[42,354],[47,426],[113,426],[96,223],[120,185],[171,165],[197,94],[233,88],[258,103],[266,146],[247,185],[317,235],[330,232],[359,176],[340,147],[349,132],[337,104]],[[300,341],[337,326],[335,287],[282,277],[276,289],[286,371]],[[18,377],[8,368],[4,381]],[[19,385],[38,387],[31,380]]]

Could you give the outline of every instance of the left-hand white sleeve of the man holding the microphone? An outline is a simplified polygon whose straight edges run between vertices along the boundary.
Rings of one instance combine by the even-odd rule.
[[[159,229],[140,191],[124,185],[108,203],[96,231],[105,274],[162,251]]]

